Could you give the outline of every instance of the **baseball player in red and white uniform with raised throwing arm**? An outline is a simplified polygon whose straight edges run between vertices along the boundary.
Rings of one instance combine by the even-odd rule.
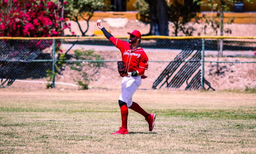
[[[122,76],[121,94],[118,103],[121,110],[122,126],[117,132],[112,134],[128,134],[127,117],[128,108],[138,112],[145,117],[148,122],[149,131],[154,128],[156,114],[147,113],[137,103],[132,101],[134,92],[141,85],[141,79],[146,78],[145,70],[148,69],[148,57],[145,51],[139,46],[141,34],[138,30],[128,32],[130,35],[129,43],[121,41],[111,35],[103,26],[102,21],[97,21],[97,27],[102,30],[107,39],[109,39],[122,54],[122,61],[117,62],[118,72]],[[123,65],[123,66],[121,66]],[[123,67],[123,68],[119,68]]]

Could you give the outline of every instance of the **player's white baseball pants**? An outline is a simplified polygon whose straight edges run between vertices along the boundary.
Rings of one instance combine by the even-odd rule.
[[[121,95],[119,100],[125,102],[127,107],[132,106],[132,97],[138,87],[141,85],[141,76],[125,76],[121,82]]]

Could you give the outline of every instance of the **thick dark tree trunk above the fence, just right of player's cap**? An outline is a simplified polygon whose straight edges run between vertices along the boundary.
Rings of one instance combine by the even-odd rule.
[[[165,0],[148,0],[150,13],[149,35],[169,35],[168,13]]]

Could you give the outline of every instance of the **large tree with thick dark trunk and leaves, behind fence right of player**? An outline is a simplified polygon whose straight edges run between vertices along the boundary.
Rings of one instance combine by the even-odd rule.
[[[171,21],[174,24],[175,36],[179,31],[191,36],[196,29],[187,23],[193,18],[196,19],[195,22],[199,21],[196,5],[188,4],[188,1],[136,0],[134,6],[139,11],[140,21],[150,24],[150,32],[147,35],[168,35],[168,21]]]

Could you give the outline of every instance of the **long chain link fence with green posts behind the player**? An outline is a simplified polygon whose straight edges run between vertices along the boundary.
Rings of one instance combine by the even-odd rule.
[[[147,36],[140,46],[149,57],[142,89],[256,86],[256,38]],[[93,56],[79,59],[77,51]],[[105,37],[0,38],[0,87],[15,81],[77,86],[91,76],[89,87],[118,88],[119,60],[119,50]]]

